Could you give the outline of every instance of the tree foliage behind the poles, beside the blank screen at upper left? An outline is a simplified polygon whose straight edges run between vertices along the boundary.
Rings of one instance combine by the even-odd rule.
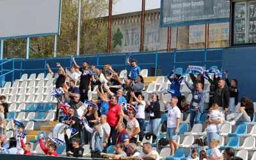
[[[117,0],[113,0],[113,4]],[[108,1],[81,1],[80,54],[107,52],[108,48]],[[78,0],[63,0],[61,29],[58,35],[57,56],[75,55],[77,49]],[[114,33],[112,33],[113,35]],[[111,42],[111,49],[114,42]],[[54,36],[30,38],[29,58],[52,57]],[[4,41],[4,57],[26,58],[26,38]]]

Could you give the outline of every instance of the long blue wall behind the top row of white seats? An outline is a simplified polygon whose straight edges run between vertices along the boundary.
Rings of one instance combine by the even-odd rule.
[[[176,56],[174,56],[176,55]],[[174,60],[176,57],[176,60]],[[88,61],[90,65],[97,66],[97,54],[95,56],[78,56],[76,57],[76,62],[78,65],[82,65],[83,61]],[[132,54],[132,59],[138,60],[138,65],[141,69],[148,69],[148,76],[151,75],[150,68],[155,67],[156,65],[156,52],[138,52],[136,54]],[[206,61],[215,61],[221,60],[221,50],[210,50],[206,52]],[[20,69],[22,65],[22,72],[20,70],[16,70],[14,73],[14,79],[19,79],[22,74],[33,74],[45,72],[45,76],[48,73],[47,68],[45,67],[45,60],[46,63],[50,65],[53,72],[57,72],[58,68],[56,67],[56,63],[60,62],[63,68],[70,67],[70,57],[61,57],[61,58],[38,58],[38,59],[29,59],[29,60],[16,60],[14,63],[15,69]],[[105,54],[99,54],[99,66],[98,68],[103,68],[105,63],[109,63],[113,66],[113,68],[117,69],[118,72],[124,70],[127,67],[128,73],[131,71],[129,66],[125,66],[126,61],[126,54],[125,53],[116,53],[106,56]],[[199,66],[206,66],[208,69],[212,65],[218,66],[221,68],[221,61],[219,62],[206,62],[205,63],[205,51],[198,50],[198,51],[177,51],[176,54],[174,52],[159,52],[157,56],[157,67],[162,68],[161,75],[167,76],[170,71],[174,68],[174,61],[175,68],[183,68],[183,73],[188,68],[188,65],[199,65]],[[187,62],[187,63],[180,63],[180,62]],[[200,61],[200,62],[189,62],[189,61]],[[1,67],[1,66],[0,66]],[[13,62],[10,61],[3,65],[4,69],[12,70]],[[6,75],[6,81],[12,81],[12,74]]]

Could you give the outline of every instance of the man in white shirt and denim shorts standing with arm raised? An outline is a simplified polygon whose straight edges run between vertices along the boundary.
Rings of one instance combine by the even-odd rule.
[[[171,148],[171,156],[174,155],[175,150],[179,148],[177,144],[176,138],[177,133],[179,132],[179,125],[180,125],[180,109],[177,107],[178,98],[172,97],[171,104],[168,104],[164,100],[164,93],[162,92],[162,102],[164,106],[168,109],[168,118],[167,118],[167,129],[166,134],[169,140],[170,148]]]

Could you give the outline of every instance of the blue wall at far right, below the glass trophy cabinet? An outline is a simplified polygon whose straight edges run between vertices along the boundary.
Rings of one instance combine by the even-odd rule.
[[[223,49],[222,66],[228,70],[228,79],[237,79],[239,101],[241,97],[256,100],[256,46]]]

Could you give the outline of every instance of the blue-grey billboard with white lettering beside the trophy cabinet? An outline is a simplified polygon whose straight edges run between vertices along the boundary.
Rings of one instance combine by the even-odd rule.
[[[161,0],[160,26],[228,22],[230,0]]]

